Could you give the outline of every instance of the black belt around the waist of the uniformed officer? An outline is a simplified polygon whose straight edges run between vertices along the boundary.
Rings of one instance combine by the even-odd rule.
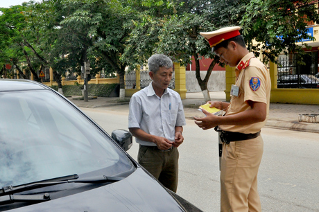
[[[221,138],[221,141],[226,144],[229,144],[232,141],[244,141],[249,139],[255,139],[260,134],[260,131],[256,133],[250,133],[250,134],[245,134],[241,132],[223,131],[223,130],[218,130],[218,127],[215,127],[215,130],[219,132],[219,137]]]

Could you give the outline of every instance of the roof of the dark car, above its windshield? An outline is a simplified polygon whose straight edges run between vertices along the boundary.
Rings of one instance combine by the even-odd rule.
[[[47,89],[45,85],[33,80],[0,79],[0,92]]]

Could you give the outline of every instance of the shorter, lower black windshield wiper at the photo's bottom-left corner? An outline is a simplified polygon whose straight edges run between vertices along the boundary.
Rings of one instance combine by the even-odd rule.
[[[0,197],[0,205],[14,202],[43,202],[47,200],[50,200],[49,193],[44,193],[44,195],[6,195]]]

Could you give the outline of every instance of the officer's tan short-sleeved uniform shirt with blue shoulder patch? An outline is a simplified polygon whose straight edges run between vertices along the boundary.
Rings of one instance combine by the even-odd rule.
[[[236,69],[240,71],[236,80],[239,87],[239,96],[232,96],[230,106],[225,116],[238,114],[251,109],[247,101],[261,102],[267,104],[266,120],[250,125],[220,125],[221,130],[241,133],[256,133],[266,124],[269,114],[270,103],[270,74],[265,65],[255,58],[253,53],[248,53],[241,59]]]

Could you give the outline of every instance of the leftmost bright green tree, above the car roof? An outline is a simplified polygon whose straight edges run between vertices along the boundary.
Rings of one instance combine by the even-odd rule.
[[[47,56],[51,49],[44,46],[43,40],[46,38],[44,29],[45,15],[39,8],[42,6],[35,1],[24,2],[21,6],[11,6],[1,8],[3,15],[0,21],[3,23],[3,37],[0,43],[5,48],[1,52],[3,60],[10,60],[19,75],[28,79],[29,73],[33,73],[34,79],[40,82],[37,72],[49,66]],[[24,65],[26,64],[26,65]],[[26,74],[24,74],[24,71]]]

